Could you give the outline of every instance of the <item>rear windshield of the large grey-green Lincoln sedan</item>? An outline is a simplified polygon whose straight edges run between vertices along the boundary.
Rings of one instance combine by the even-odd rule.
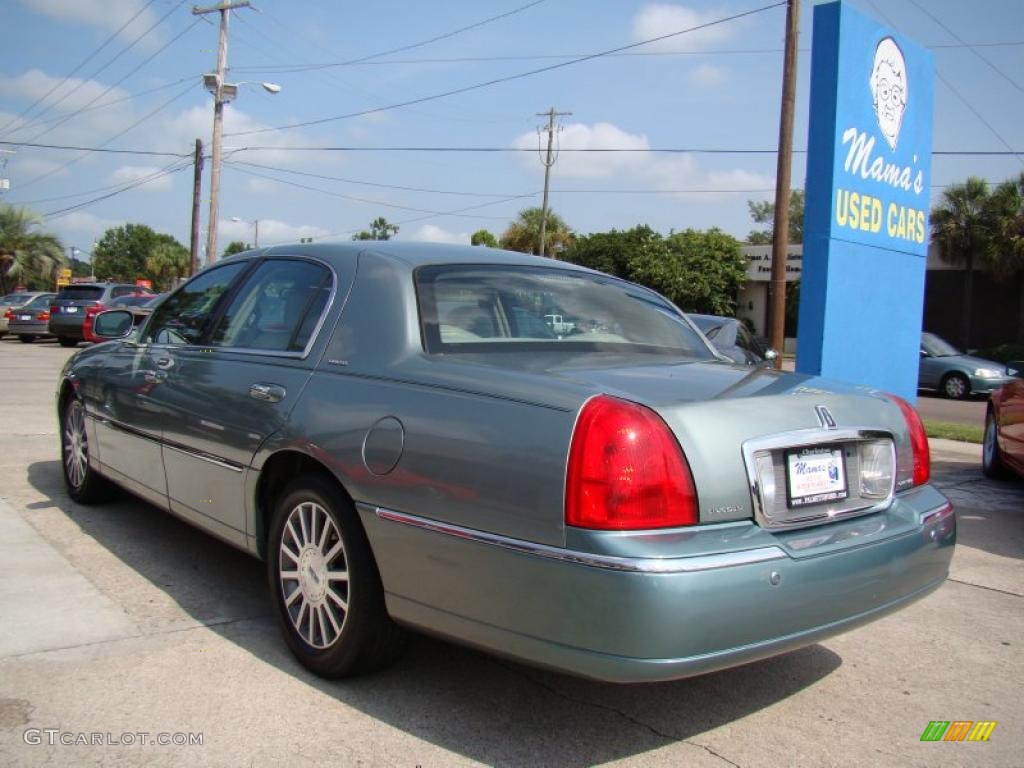
[[[675,306],[647,289],[568,269],[444,265],[416,272],[428,352],[516,350],[711,359]]]

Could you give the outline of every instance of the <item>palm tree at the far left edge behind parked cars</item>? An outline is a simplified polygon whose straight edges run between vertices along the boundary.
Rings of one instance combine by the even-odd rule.
[[[49,289],[68,263],[56,236],[40,231],[42,219],[24,208],[0,204],[0,295],[17,284]]]

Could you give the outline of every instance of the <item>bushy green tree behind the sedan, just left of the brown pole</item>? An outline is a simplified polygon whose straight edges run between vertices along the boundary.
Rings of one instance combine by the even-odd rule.
[[[665,250],[642,249],[630,260],[630,280],[663,294],[687,312],[732,315],[746,280],[739,242],[721,229],[685,229]]]

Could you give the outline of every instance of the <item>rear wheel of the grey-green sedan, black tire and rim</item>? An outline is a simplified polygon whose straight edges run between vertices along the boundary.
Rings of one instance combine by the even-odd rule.
[[[278,624],[310,672],[329,679],[373,672],[404,648],[406,633],[387,613],[380,572],[355,508],[330,478],[302,475],[279,497],[266,563]],[[338,579],[343,572],[347,579]]]

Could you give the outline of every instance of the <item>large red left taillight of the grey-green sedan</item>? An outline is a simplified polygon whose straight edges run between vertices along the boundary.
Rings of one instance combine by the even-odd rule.
[[[569,447],[565,523],[624,530],[697,521],[693,475],[660,417],[607,395],[584,406]]]

